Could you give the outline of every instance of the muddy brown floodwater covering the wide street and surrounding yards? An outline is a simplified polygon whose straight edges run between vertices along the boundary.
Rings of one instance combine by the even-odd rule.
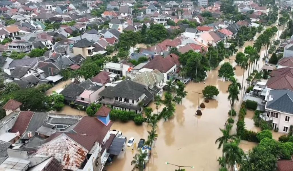
[[[245,42],[243,47],[248,45],[253,45],[253,42]],[[244,48],[240,48],[239,51],[243,52]],[[264,53],[265,48],[262,48],[260,53],[261,59]],[[235,55],[230,60],[225,59],[224,61],[236,66],[234,60]],[[263,65],[264,62],[260,60],[258,61],[257,68],[260,70]],[[159,121],[157,128],[158,138],[152,150],[151,159],[147,164],[147,171],[178,169],[176,166],[166,165],[165,162],[195,167],[194,169],[185,168],[187,171],[219,169],[217,158],[222,156],[222,151],[221,149],[217,149],[218,145],[215,144],[215,140],[221,136],[219,128],[224,128],[231,106],[227,100],[229,82],[218,77],[218,69],[219,67],[209,71],[207,79],[203,82],[189,82],[185,88],[188,94],[183,99],[182,104],[176,105],[174,117],[170,121]],[[242,84],[243,70],[241,67],[236,66],[235,73],[236,78]],[[245,71],[244,79],[247,76],[248,70]],[[204,98],[202,94],[198,96],[195,92],[202,92],[202,89],[207,85],[216,86],[219,89],[219,95],[215,99],[210,100],[209,103],[205,103],[206,107],[202,109],[202,116],[196,116],[195,111],[198,107],[198,101],[199,103],[203,103]],[[247,87],[246,81],[244,81],[244,87]],[[242,93],[239,99],[242,99]],[[153,108],[155,113],[156,106],[154,102],[151,102],[149,106]],[[236,102],[236,111],[239,110],[239,107],[240,102]],[[160,106],[159,111],[162,109],[163,106]],[[260,131],[259,128],[253,125],[253,115],[253,111],[248,111],[245,117],[246,127],[249,130]],[[237,116],[234,119],[236,120]],[[236,133],[235,125],[236,122],[231,131],[232,133]],[[128,139],[134,137],[135,142],[138,143],[140,138],[147,139],[147,131],[150,128],[145,123],[142,126],[136,126],[131,121],[127,123],[114,122],[112,129],[122,131],[123,135]],[[273,134],[274,138],[279,135],[279,133]],[[257,143],[241,140],[240,147],[247,152],[256,145]],[[136,149],[132,150],[132,148],[127,147],[124,152],[120,153],[114,159],[111,165],[105,167],[105,170],[132,170],[133,166],[131,165],[131,161],[136,151]]]

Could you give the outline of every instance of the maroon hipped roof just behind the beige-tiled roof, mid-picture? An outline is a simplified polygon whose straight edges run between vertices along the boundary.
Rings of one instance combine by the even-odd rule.
[[[174,65],[176,65],[171,60],[168,60],[160,55],[157,55],[154,57],[153,60],[149,61],[146,65],[144,65],[144,68],[149,69],[157,69],[162,73],[166,73],[169,71]]]

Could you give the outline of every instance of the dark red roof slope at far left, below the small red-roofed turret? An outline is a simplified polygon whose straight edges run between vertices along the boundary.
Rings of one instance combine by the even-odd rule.
[[[33,114],[34,113],[31,111],[21,111],[18,114],[16,122],[11,128],[11,132],[16,133],[17,131],[19,131],[20,135],[22,135],[28,127],[28,124],[30,123],[30,119],[32,118]]]

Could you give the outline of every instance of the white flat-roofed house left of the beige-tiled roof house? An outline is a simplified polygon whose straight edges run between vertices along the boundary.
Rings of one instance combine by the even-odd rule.
[[[114,63],[114,62],[108,62],[106,63],[106,65],[104,66],[104,70],[112,73],[112,74],[116,74],[119,77],[126,77],[126,72],[128,71],[128,69],[130,68],[129,65],[126,64],[119,64],[119,63]]]

